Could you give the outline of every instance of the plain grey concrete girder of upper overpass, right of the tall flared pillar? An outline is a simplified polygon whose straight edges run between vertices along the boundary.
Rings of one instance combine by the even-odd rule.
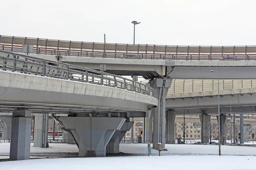
[[[167,66],[166,72],[172,71],[169,74],[172,79],[218,79],[218,74],[211,70],[218,71],[220,79],[256,79],[256,62],[252,66],[247,61],[215,62],[216,66],[212,66],[211,61],[205,62],[205,65],[202,61],[198,62],[201,65],[195,61],[173,61],[174,69],[173,66]]]

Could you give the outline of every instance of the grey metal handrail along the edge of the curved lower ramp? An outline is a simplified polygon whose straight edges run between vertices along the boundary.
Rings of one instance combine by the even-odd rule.
[[[0,69],[126,89],[157,98],[154,88],[114,74],[0,50]]]

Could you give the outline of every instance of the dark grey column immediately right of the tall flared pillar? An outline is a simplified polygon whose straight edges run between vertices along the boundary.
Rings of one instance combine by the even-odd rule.
[[[173,144],[175,142],[175,111],[166,111],[166,143]]]

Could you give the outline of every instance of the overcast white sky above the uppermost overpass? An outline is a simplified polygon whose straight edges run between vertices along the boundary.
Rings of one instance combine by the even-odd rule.
[[[86,42],[256,45],[255,0],[0,0],[0,34]]]

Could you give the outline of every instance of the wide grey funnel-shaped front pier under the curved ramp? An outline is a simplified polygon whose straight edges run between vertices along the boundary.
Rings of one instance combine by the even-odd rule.
[[[117,117],[60,117],[65,129],[73,134],[79,147],[79,157],[106,156],[106,146],[125,118]]]

